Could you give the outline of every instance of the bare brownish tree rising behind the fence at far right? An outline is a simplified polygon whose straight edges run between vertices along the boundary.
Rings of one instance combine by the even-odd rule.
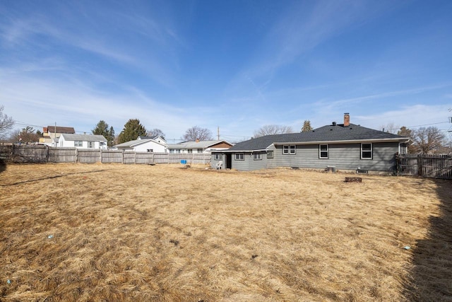
[[[438,153],[446,137],[436,127],[421,127],[413,132],[413,147],[417,153]]]

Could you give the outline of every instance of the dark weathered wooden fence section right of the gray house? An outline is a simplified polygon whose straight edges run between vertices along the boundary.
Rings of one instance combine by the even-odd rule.
[[[398,175],[452,179],[452,156],[406,154],[397,158]]]

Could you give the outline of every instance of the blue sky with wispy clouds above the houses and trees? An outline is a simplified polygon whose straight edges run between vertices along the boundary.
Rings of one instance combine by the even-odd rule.
[[[452,1],[0,0],[0,105],[17,128],[179,139],[301,129],[451,129]],[[41,129],[42,130],[42,129]]]

